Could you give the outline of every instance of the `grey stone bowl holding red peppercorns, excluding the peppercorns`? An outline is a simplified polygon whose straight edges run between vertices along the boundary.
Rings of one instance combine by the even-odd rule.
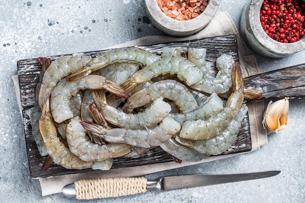
[[[283,58],[305,50],[305,37],[293,43],[278,42],[269,37],[260,21],[260,10],[264,0],[251,0],[240,18],[241,36],[248,46],[266,58]]]

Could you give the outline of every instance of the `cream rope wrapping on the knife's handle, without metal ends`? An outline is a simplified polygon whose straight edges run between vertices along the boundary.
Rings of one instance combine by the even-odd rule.
[[[101,178],[74,182],[77,199],[134,195],[147,191],[146,178]]]

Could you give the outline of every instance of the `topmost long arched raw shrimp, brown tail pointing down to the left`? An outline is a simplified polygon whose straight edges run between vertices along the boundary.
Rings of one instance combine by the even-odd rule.
[[[158,60],[161,56],[153,54],[149,51],[137,47],[124,47],[110,50],[103,55],[92,59],[86,66],[77,72],[69,75],[66,80],[74,81],[83,76],[90,74],[93,71],[99,70],[116,62],[135,63],[141,67],[150,65],[152,62]]]

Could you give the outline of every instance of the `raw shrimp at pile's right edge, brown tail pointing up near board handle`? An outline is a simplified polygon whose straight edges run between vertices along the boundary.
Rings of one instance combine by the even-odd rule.
[[[191,140],[206,140],[228,128],[244,102],[244,83],[241,68],[235,63],[232,70],[233,92],[225,108],[208,120],[185,121],[179,136]]]

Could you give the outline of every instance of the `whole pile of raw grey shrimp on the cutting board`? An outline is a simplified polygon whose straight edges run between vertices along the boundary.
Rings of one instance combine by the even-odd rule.
[[[108,170],[114,158],[155,146],[188,162],[224,152],[248,111],[243,79],[232,55],[219,56],[215,71],[205,57],[204,48],[127,47],[38,58],[31,121],[40,154],[65,168]]]

